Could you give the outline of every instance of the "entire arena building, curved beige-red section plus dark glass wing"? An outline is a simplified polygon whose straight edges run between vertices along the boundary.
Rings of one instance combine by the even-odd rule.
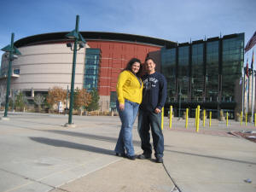
[[[73,63],[72,47],[70,44],[67,47],[72,42],[65,37],[67,33],[39,34],[15,42],[22,55],[13,61],[11,94],[20,90],[32,99],[54,86],[67,90]],[[191,108],[190,116],[194,116],[193,110],[201,105],[201,108],[211,110],[213,117],[218,117],[220,109],[234,117],[241,111],[242,103],[244,108],[251,103],[250,98],[246,103],[247,95],[242,94],[244,33],[184,44],[125,33],[80,33],[87,44],[78,50],[75,88],[84,87],[89,91],[96,88],[101,110],[115,107],[116,83],[126,63],[132,57],[144,61],[148,55],[156,60],[157,71],[166,76],[166,109],[172,105],[175,115]],[[7,69],[5,53],[0,73],[2,100],[6,92]],[[250,96],[252,94],[249,92]]]

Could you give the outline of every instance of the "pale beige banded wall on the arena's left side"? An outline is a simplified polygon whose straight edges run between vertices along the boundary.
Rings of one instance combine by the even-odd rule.
[[[54,86],[70,89],[73,51],[66,44],[41,44],[22,47],[22,55],[13,61],[13,68],[20,68],[20,77],[11,79],[14,90],[49,90]],[[78,50],[75,88],[84,84],[85,50]],[[3,81],[2,81],[3,82]]]

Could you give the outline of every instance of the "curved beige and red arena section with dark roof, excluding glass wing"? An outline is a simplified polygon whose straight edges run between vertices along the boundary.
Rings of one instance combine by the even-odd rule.
[[[15,42],[21,55],[13,61],[11,92],[21,90],[26,96],[47,92],[54,86],[67,90],[70,87],[73,50],[67,47],[68,32],[39,34]],[[100,106],[110,106],[110,96],[115,97],[119,72],[132,58],[144,61],[150,52],[164,46],[176,45],[172,41],[138,35],[113,32],[80,32],[86,39],[86,47],[78,50],[75,88],[96,88]],[[4,98],[8,71],[8,57],[2,56],[0,96]],[[160,68],[160,64],[158,66]]]

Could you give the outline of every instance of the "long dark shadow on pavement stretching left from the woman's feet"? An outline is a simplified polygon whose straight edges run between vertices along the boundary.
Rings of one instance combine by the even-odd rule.
[[[110,154],[113,155],[114,152],[113,150],[108,150],[105,148],[96,148],[90,145],[84,145],[84,144],[79,144],[79,143],[73,143],[73,142],[67,142],[63,140],[57,140],[57,139],[50,139],[46,137],[29,137],[32,141],[38,142],[38,143],[44,143],[47,145],[52,145],[55,147],[61,147],[61,148],[74,148],[74,149],[79,149],[79,150],[86,150],[90,151],[93,153],[98,153],[98,154]]]

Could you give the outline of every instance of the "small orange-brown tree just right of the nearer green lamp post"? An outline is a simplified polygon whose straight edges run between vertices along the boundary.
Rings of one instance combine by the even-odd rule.
[[[88,107],[91,102],[90,93],[87,92],[86,89],[79,90],[78,88],[75,90],[74,94],[74,108],[82,109]]]

